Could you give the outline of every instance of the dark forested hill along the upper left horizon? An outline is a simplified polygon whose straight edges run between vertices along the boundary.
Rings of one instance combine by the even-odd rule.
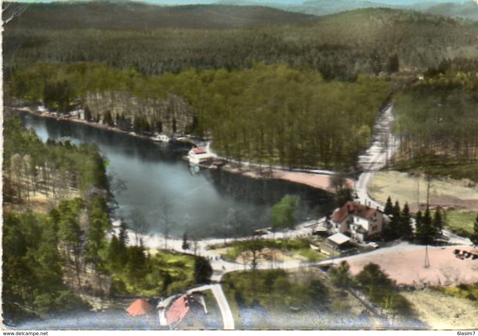
[[[6,5],[4,5],[6,7]],[[237,28],[288,24],[315,18],[259,6],[187,5],[157,6],[139,2],[12,3],[5,16],[26,8],[8,28]]]

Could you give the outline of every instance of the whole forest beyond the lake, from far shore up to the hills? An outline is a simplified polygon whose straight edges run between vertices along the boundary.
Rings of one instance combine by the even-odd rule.
[[[478,55],[476,23],[413,11],[361,9],[287,21],[261,8],[262,23],[283,24],[206,29],[184,20],[191,26],[130,29],[129,21],[96,28],[93,19],[79,20],[88,6],[120,6],[120,19],[130,10],[124,4],[35,6],[33,12],[69,13],[71,23],[60,16],[33,29],[23,14],[9,22],[7,96],[55,111],[83,107],[87,120],[137,133],[212,136],[220,155],[286,167],[353,168],[387,100],[385,75],[393,90],[402,89],[394,73],[412,73],[409,85],[414,72],[443,59]],[[158,7],[151,15],[196,13],[216,22],[248,10]],[[116,14],[109,15],[113,24]]]

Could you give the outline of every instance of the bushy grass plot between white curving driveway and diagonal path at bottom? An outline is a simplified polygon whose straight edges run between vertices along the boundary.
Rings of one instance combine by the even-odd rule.
[[[237,329],[382,328],[352,294],[316,268],[227,273],[223,290]],[[422,326],[397,315],[395,326]]]

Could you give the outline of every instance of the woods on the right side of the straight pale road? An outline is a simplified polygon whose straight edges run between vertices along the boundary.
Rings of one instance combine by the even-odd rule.
[[[395,97],[395,164],[478,181],[478,62],[444,61]]]

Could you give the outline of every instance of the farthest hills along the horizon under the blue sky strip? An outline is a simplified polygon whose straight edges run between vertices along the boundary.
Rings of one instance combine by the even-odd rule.
[[[218,0],[212,5],[165,6],[151,0],[65,1],[50,3],[3,2],[8,28],[239,28],[264,24],[291,24],[359,8],[419,10],[434,15],[478,21],[475,1],[428,2],[396,0]],[[197,0],[198,2],[210,0]]]

